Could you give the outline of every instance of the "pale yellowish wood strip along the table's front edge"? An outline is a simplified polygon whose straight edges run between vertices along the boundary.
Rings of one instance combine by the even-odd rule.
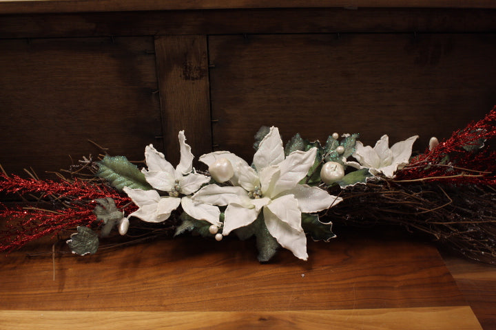
[[[328,311],[0,311],[3,329],[482,329],[470,307],[342,309]]]

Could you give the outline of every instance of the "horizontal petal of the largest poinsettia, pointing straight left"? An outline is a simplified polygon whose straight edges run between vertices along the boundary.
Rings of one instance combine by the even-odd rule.
[[[209,184],[198,190],[193,195],[194,201],[200,201],[210,205],[226,206],[230,203],[237,203],[243,206],[250,206],[251,199],[248,197],[248,192],[236,186],[220,187],[216,184]]]

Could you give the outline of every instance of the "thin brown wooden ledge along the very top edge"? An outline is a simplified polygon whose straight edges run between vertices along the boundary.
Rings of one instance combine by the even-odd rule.
[[[0,1],[0,13],[25,12],[118,12],[128,10],[194,10],[228,8],[309,8],[309,7],[428,7],[496,8],[492,0],[18,0]]]

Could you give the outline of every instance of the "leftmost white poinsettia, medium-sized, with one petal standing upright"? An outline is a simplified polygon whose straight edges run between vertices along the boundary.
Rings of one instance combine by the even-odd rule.
[[[176,168],[165,160],[163,153],[156,151],[150,144],[145,148],[145,161],[148,168],[141,170],[153,188],[168,192],[169,196],[161,196],[156,190],[125,187],[124,191],[139,207],[130,215],[147,222],[162,222],[167,220],[171,212],[181,205],[191,217],[220,226],[218,207],[193,201],[191,196],[188,196],[210,181],[210,178],[194,170],[194,155],[191,152],[191,146],[186,143],[184,131],[180,131],[178,137],[180,162]]]

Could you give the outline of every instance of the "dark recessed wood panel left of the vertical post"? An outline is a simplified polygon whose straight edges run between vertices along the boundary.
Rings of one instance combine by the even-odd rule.
[[[43,175],[98,149],[144,159],[162,134],[148,38],[1,40],[0,163]],[[149,54],[151,52],[151,54]],[[45,176],[45,175],[43,175]]]

